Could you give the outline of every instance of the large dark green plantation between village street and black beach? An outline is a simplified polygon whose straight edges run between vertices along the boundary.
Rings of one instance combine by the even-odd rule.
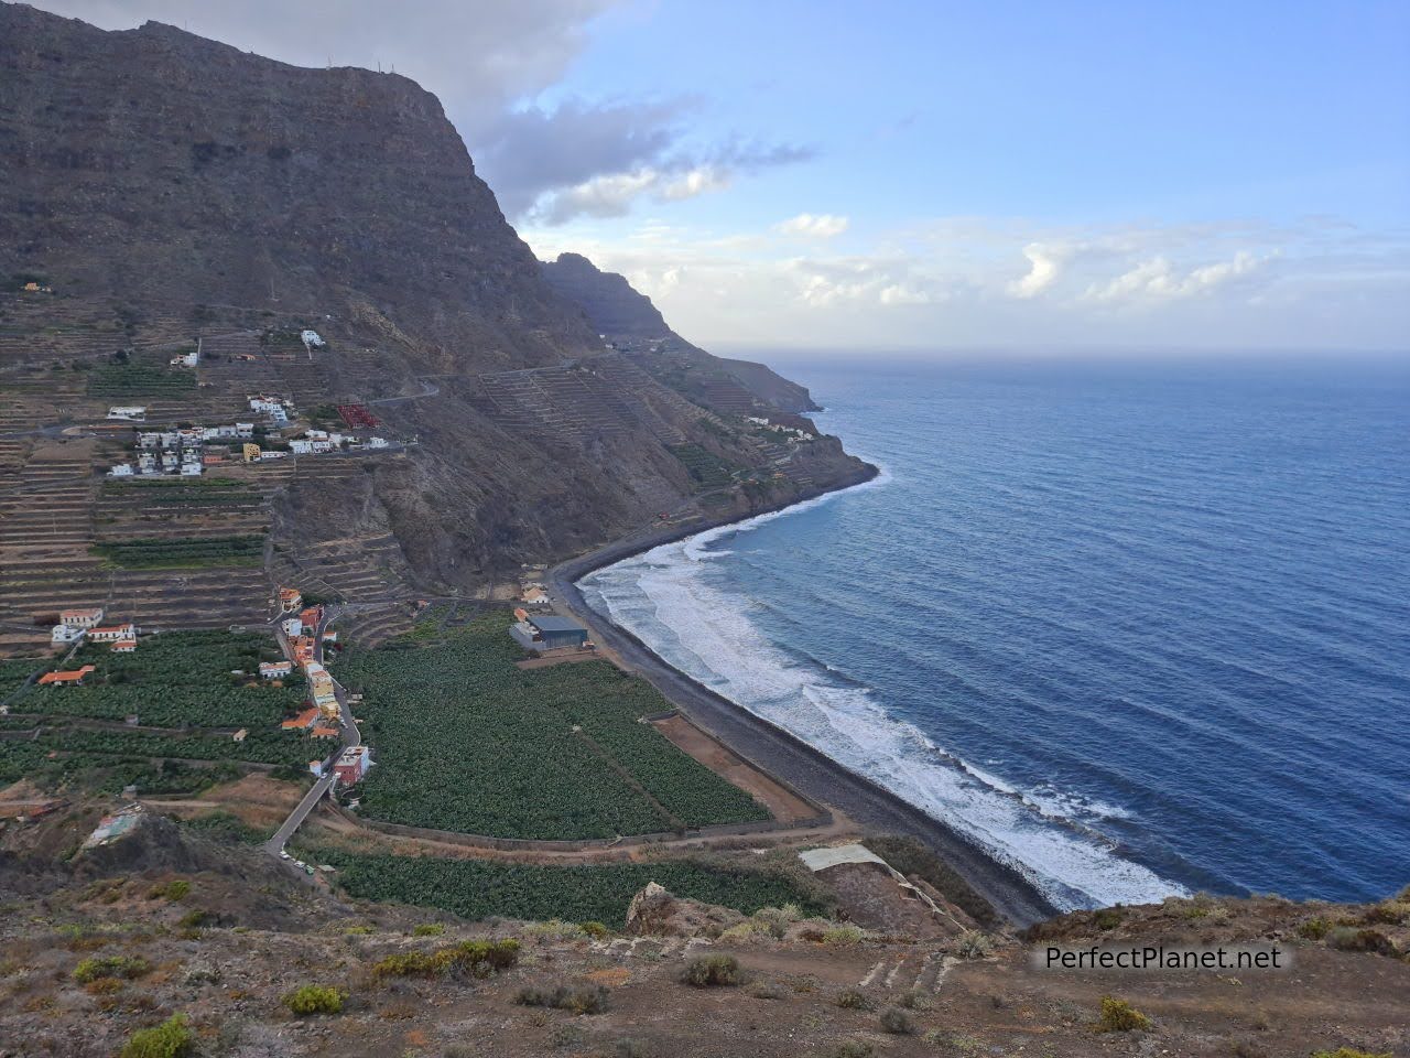
[[[608,662],[525,671],[494,614],[436,640],[347,650],[379,763],[360,811],[503,838],[581,839],[767,820],[749,794],[639,718],[670,708]]]

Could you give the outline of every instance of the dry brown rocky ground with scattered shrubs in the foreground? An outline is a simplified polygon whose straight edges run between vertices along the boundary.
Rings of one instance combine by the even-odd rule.
[[[0,849],[7,1057],[1410,1054],[1410,892],[1167,900],[928,938],[653,892],[615,932],[352,903],[166,820],[90,851],[11,825]],[[1279,942],[1293,966],[1031,963],[1096,942]]]

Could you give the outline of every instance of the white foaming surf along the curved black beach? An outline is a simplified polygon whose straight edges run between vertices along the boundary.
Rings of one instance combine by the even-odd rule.
[[[770,642],[750,618],[753,604],[712,583],[718,578],[711,576],[711,563],[722,552],[705,549],[781,513],[788,512],[654,547],[589,574],[580,587],[594,608],[670,664],[964,832],[1021,870],[1056,906],[1149,903],[1184,892],[1117,855],[1112,842],[1093,829],[1101,817],[1122,814],[1115,805],[1048,789],[1024,793],[891,717],[870,690],[846,684],[825,666],[797,660]]]

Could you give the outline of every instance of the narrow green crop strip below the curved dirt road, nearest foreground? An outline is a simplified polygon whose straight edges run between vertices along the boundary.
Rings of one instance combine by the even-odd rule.
[[[784,875],[736,870],[694,861],[541,866],[479,859],[355,855],[334,849],[305,853],[338,869],[350,896],[439,907],[465,918],[489,916],[543,921],[596,921],[620,930],[632,897],[649,882],[673,894],[753,914],[760,907],[798,904],[823,913],[814,896]]]

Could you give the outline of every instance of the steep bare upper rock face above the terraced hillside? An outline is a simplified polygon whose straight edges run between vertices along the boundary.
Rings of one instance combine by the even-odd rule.
[[[0,6],[0,75],[3,276],[147,312],[365,303],[465,365],[598,344],[407,78],[18,4]]]

